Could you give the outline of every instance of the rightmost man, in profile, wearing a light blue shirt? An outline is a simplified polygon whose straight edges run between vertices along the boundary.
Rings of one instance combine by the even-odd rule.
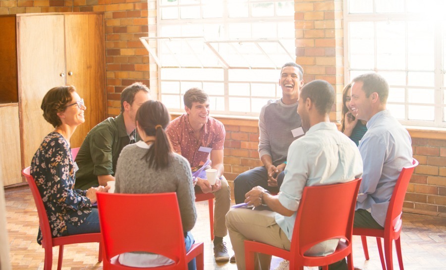
[[[386,110],[388,96],[388,83],[376,73],[363,74],[352,81],[350,107],[356,118],[367,121],[368,129],[359,143],[364,173],[354,227],[383,229],[399,173],[412,165],[410,135]],[[329,269],[346,269],[346,262]]]

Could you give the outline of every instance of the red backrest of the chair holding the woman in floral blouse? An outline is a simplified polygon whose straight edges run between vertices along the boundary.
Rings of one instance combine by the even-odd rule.
[[[42,247],[53,247],[52,243],[52,233],[50,228],[50,221],[48,220],[47,210],[45,210],[45,205],[42,201],[42,197],[40,196],[39,188],[34,181],[34,178],[30,175],[31,167],[25,168],[22,171],[22,175],[25,177],[28,182],[29,188],[31,189],[31,193],[33,194],[34,202],[37,207],[37,214],[39,215],[39,225],[40,230],[42,231]]]

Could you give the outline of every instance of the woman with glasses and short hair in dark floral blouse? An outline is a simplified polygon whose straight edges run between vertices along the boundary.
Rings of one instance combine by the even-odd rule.
[[[48,134],[31,161],[31,175],[42,196],[53,237],[99,232],[96,192],[108,188],[73,189],[77,166],[70,151],[70,138],[85,122],[84,100],[73,86],[49,90],[41,108],[47,122],[55,127]],[[41,244],[39,229],[37,242]]]

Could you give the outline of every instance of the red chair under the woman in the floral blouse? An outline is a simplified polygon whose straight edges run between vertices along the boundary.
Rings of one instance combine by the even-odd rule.
[[[53,247],[59,246],[59,258],[57,262],[57,270],[62,267],[62,257],[63,257],[63,245],[68,244],[78,244],[78,243],[91,243],[99,242],[99,259],[98,262],[102,262],[102,245],[101,245],[101,233],[84,233],[75,234],[68,236],[60,236],[52,238],[50,222],[48,221],[47,211],[45,210],[42,197],[40,196],[39,189],[37,188],[36,182],[30,175],[31,167],[25,168],[22,171],[22,175],[28,181],[31,193],[34,197],[34,202],[37,207],[37,214],[39,215],[39,225],[42,231],[42,247],[45,249],[45,270],[51,270],[53,265]]]

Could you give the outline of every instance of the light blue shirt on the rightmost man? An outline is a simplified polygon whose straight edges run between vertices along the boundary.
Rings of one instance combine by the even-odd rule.
[[[364,174],[356,209],[370,211],[375,221],[384,226],[399,173],[412,165],[412,140],[387,110],[375,114],[367,122],[367,129],[359,143]]]

